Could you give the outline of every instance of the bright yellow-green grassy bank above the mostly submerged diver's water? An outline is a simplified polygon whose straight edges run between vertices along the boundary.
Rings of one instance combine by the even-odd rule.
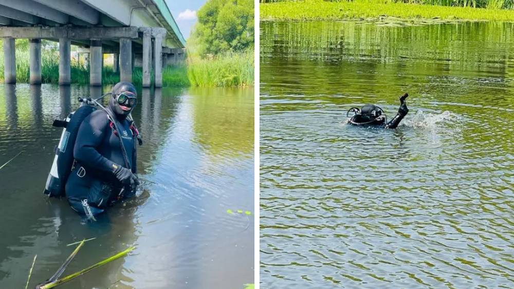
[[[261,20],[344,20],[348,18],[379,19],[384,15],[399,18],[472,21],[514,22],[514,10],[450,7],[384,1],[357,0],[354,2],[326,2],[306,0],[302,2],[261,3]]]

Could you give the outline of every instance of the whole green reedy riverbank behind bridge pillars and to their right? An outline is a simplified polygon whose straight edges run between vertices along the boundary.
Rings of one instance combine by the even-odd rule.
[[[44,41],[45,43],[45,41]],[[0,42],[0,52],[3,43]],[[43,83],[59,82],[59,52],[56,49],[43,48],[41,53],[41,76]],[[154,75],[152,73],[152,79]],[[16,41],[16,82],[28,83],[29,51],[28,41]],[[132,71],[135,85],[142,85],[142,68]],[[4,53],[0,53],[0,82],[4,81]],[[116,84],[120,81],[113,66],[104,65],[102,83]],[[71,83],[88,84],[89,69],[83,61],[71,61]],[[162,69],[162,85],[170,87],[187,86],[251,86],[253,85],[253,50],[241,53],[228,53],[201,59],[188,56],[186,63],[167,66]]]

